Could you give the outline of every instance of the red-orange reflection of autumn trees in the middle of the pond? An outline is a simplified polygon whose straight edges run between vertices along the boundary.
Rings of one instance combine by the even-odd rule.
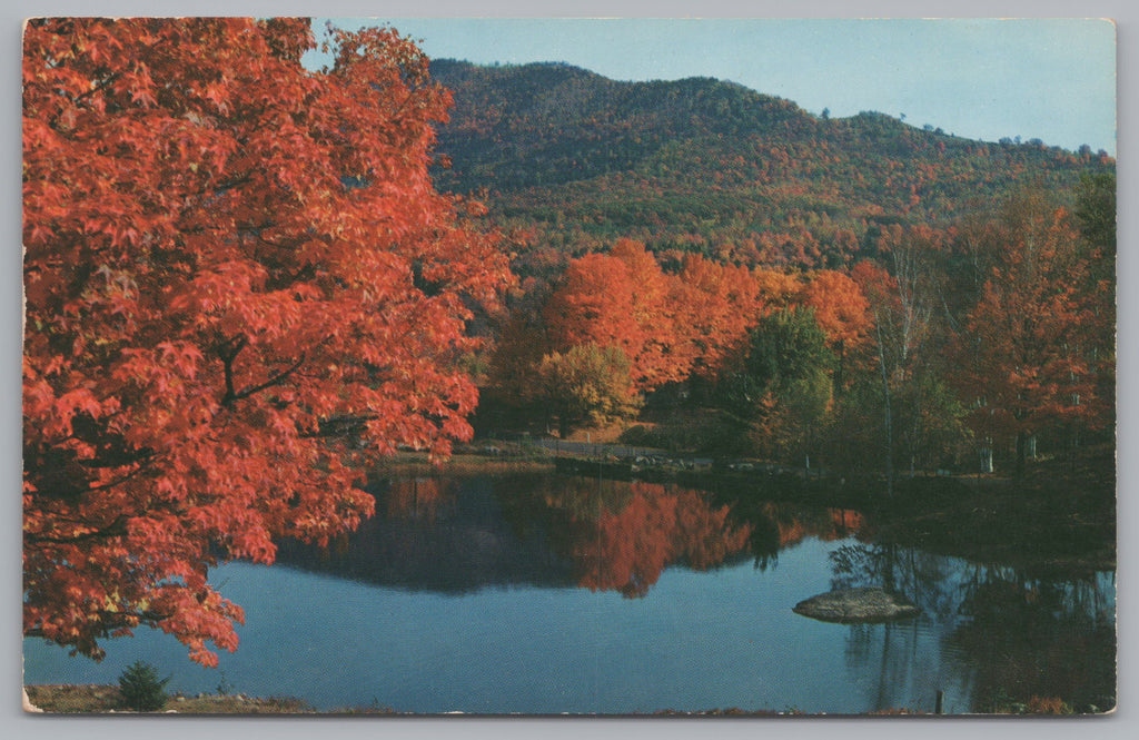
[[[634,482],[620,509],[604,503],[596,517],[574,518],[571,558],[579,583],[592,591],[644,596],[665,566],[683,561],[703,570],[744,548],[751,527],[728,521],[697,491]]]

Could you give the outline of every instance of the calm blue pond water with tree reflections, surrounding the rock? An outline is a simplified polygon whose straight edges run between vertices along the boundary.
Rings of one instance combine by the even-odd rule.
[[[1114,574],[1041,580],[874,542],[852,511],[711,501],[647,483],[407,480],[329,551],[231,563],[245,608],[219,669],[154,631],[99,664],[25,640],[27,683],[115,683],[137,659],[172,690],[293,696],[319,709],[633,713],[906,707],[1114,696]],[[917,619],[792,612],[836,585],[893,585]]]

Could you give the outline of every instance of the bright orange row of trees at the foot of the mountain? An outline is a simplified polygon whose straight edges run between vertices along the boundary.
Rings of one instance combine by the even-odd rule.
[[[698,254],[686,254],[679,270],[666,273],[644,244],[617,239],[607,253],[570,261],[542,309],[544,335],[507,334],[503,342],[544,340],[543,351],[617,348],[644,392],[693,375],[716,379],[760,319],[788,306],[813,308],[836,348],[868,336],[867,300],[842,273],[749,270]],[[515,348],[502,356],[508,353],[525,352]]]

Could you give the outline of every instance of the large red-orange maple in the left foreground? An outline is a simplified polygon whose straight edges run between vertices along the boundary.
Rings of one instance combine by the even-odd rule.
[[[449,93],[391,30],[36,19],[24,38],[24,633],[233,650],[219,561],[372,511],[358,463],[446,454],[470,306],[507,275],[427,173]],[[470,206],[474,208],[474,206]]]

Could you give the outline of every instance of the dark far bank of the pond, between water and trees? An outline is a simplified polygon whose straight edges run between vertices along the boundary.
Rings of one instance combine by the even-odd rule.
[[[1096,458],[1074,473],[1058,463],[1040,463],[1023,480],[975,474],[900,477],[894,495],[886,497],[884,481],[876,477],[813,477],[759,463],[747,470],[722,463],[698,469],[645,466],[615,457],[491,449],[498,452],[467,448],[439,464],[424,454],[400,453],[382,461],[375,472],[377,477],[600,475],[675,485],[708,491],[744,517],[767,501],[855,510],[871,518],[876,538],[1033,572],[1116,568],[1115,481],[1095,465]]]

